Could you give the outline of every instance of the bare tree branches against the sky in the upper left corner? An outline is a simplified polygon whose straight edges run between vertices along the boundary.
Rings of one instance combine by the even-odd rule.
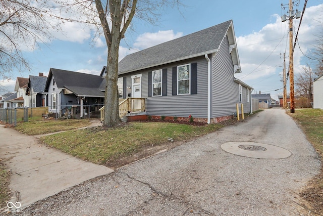
[[[59,19],[51,15],[55,5],[53,1],[0,1],[0,79],[11,79],[13,71],[30,70],[23,51],[49,41],[51,28],[59,30]]]

